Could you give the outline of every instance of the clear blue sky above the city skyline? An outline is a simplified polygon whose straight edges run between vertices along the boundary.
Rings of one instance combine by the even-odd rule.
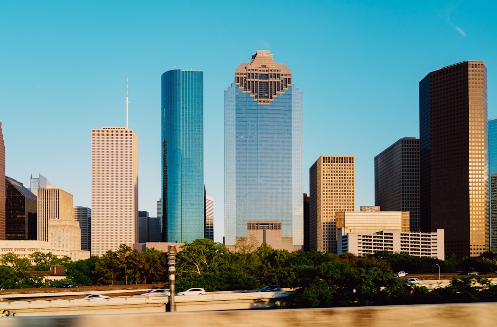
[[[223,93],[271,50],[304,94],[304,191],[320,155],[354,155],[356,207],[374,204],[374,156],[419,137],[418,82],[465,60],[497,76],[494,1],[0,0],[0,120],[6,175],[39,173],[91,206],[92,128],[139,140],[139,210],[161,197],[161,74],[204,72],[204,174],[224,235]]]

